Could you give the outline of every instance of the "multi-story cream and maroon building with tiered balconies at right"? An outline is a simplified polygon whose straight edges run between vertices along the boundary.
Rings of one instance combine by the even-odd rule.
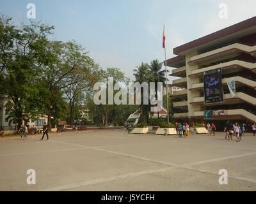
[[[173,48],[177,55],[166,61],[172,70],[172,85],[184,87],[174,92],[173,117],[202,122],[204,111],[213,110],[214,122],[223,120],[256,122],[256,17],[221,29],[197,40]],[[221,68],[223,103],[204,103],[204,72]],[[232,98],[227,82],[236,82]],[[218,114],[217,110],[224,110]]]

